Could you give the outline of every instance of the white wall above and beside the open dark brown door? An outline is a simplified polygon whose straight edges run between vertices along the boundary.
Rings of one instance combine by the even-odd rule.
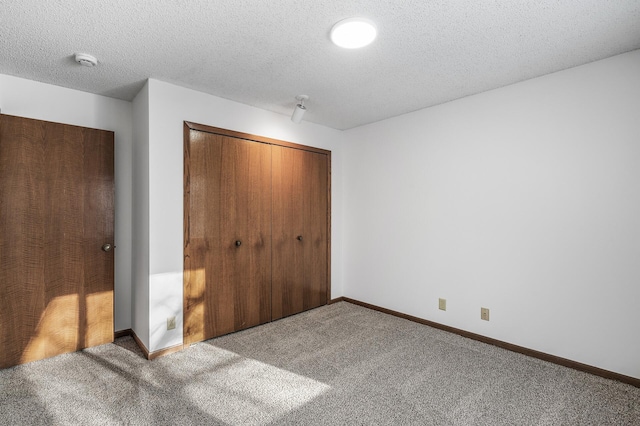
[[[3,114],[115,132],[115,329],[130,328],[131,103],[0,74],[0,108]]]

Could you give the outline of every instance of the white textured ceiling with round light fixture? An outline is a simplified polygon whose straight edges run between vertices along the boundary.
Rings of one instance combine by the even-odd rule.
[[[329,40],[376,22],[360,50]],[[0,0],[0,73],[132,100],[147,78],[348,129],[640,49],[638,0]],[[96,56],[95,68],[73,54]]]

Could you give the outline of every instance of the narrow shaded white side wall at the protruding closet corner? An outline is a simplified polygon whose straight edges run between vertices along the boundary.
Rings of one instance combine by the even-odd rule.
[[[133,100],[131,329],[149,348],[149,85]]]

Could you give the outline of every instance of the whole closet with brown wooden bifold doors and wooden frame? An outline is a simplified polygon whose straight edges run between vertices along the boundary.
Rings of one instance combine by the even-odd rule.
[[[327,303],[330,161],[185,122],[185,344]]]

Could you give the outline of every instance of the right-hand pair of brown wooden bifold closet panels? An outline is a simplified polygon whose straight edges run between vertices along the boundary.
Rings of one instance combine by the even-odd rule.
[[[272,319],[327,303],[327,155],[273,146]]]

